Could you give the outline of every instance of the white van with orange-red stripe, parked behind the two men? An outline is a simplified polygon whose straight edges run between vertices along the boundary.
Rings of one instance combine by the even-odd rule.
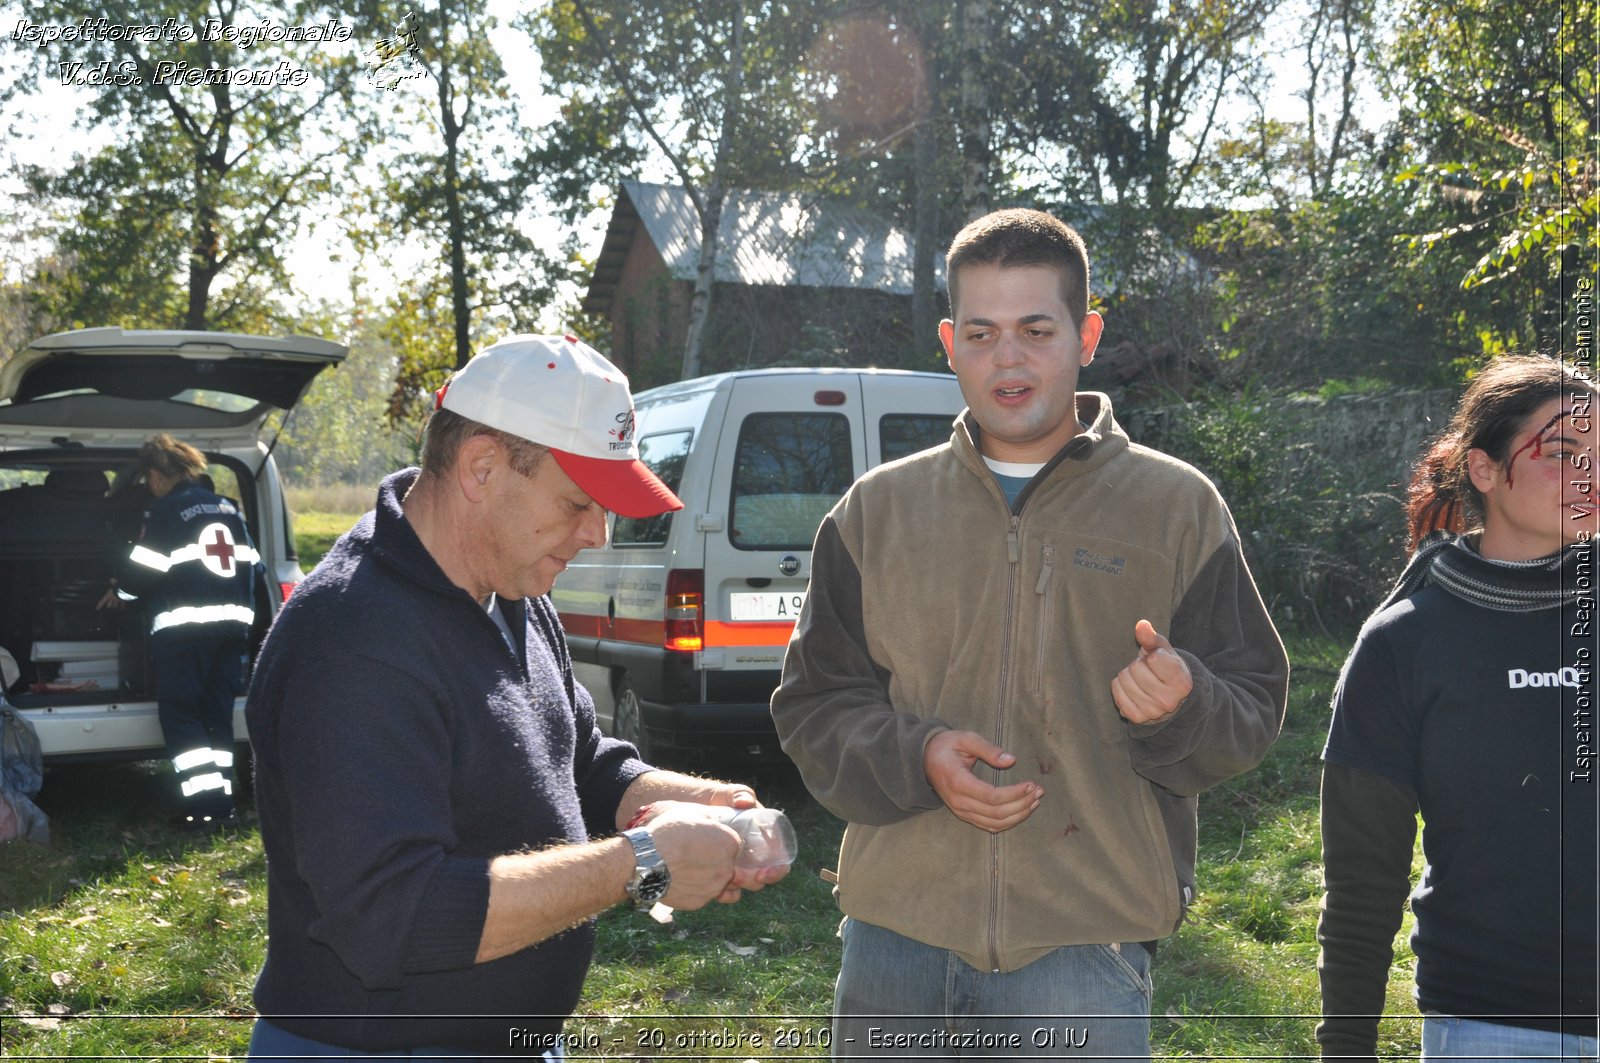
[[[867,469],[944,443],[955,376],[787,368],[634,397],[640,458],[683,499],[613,517],[552,599],[600,725],[646,759],[778,756],[768,700],[805,602],[811,541]]]

